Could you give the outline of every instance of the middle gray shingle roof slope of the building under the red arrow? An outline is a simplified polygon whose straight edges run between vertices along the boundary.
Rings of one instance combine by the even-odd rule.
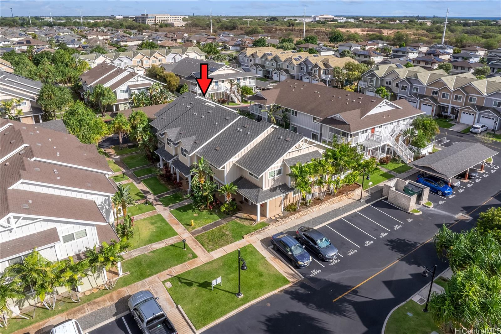
[[[268,122],[241,117],[203,146],[197,154],[220,168],[271,126]]]

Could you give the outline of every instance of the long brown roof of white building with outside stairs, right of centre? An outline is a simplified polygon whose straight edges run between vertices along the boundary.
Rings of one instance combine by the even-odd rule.
[[[293,79],[284,80],[274,88],[246,99],[263,105],[280,104],[282,107],[323,118],[323,124],[336,125],[336,128],[347,132],[423,113],[407,101],[397,100],[391,102],[396,105],[394,109],[369,114],[383,102],[382,98]],[[332,118],[336,114],[340,114],[345,121]]]

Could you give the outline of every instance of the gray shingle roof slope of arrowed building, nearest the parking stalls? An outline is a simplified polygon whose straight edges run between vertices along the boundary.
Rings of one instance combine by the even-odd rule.
[[[303,138],[302,135],[276,127],[272,133],[242,155],[236,164],[254,175],[261,176]]]

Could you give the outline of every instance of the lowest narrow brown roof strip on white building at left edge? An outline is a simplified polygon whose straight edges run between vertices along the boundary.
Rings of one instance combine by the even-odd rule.
[[[59,234],[57,228],[35,232],[13,240],[2,241],[0,243],[0,259],[29,252],[35,247],[51,245],[59,242]]]

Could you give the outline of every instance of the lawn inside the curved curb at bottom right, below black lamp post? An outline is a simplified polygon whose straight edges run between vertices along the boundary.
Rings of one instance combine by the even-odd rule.
[[[409,300],[391,313],[385,334],[430,334],[433,330],[442,333],[431,319],[430,313],[423,312],[424,305]],[[407,312],[412,313],[409,316]]]

